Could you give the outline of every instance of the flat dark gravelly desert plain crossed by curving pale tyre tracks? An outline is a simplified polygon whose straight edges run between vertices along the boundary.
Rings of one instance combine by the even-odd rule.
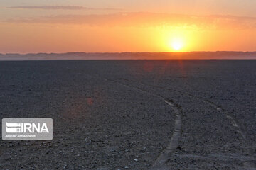
[[[256,169],[256,60],[0,62],[0,169]]]

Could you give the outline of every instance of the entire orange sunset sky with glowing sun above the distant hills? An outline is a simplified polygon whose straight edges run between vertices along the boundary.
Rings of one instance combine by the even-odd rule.
[[[255,0],[0,0],[0,53],[256,51]]]

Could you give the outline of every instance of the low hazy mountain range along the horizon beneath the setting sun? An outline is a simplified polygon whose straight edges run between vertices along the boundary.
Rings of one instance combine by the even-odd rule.
[[[256,59],[256,52],[67,52],[0,54],[0,60],[232,60]]]

